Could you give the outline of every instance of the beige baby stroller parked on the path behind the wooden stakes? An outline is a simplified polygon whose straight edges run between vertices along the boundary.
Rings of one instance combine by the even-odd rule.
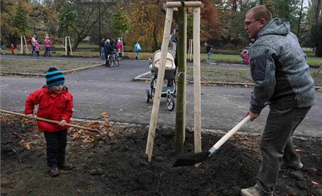
[[[153,53],[152,58],[149,59],[149,69],[151,72],[151,90],[146,90],[146,103],[149,103],[150,99],[155,95],[155,87],[157,85],[158,70],[160,66],[161,50],[157,50]],[[168,51],[167,61],[165,63],[165,78],[167,80],[167,86],[162,86],[161,97],[167,98],[167,108],[169,111],[174,110],[174,93],[176,91],[176,80],[174,78],[174,70],[176,65],[174,64],[174,55]]]

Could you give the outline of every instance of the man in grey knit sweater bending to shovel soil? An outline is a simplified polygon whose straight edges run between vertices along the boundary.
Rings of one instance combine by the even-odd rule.
[[[244,29],[253,39],[248,54],[255,82],[246,114],[253,121],[265,103],[270,110],[260,141],[262,163],[255,186],[242,189],[241,195],[273,195],[281,164],[303,167],[290,137],[316,103],[314,80],[287,20],[272,19],[266,6],[256,6],[246,13]]]

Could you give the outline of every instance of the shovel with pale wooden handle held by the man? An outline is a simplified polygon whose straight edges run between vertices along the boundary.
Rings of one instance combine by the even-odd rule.
[[[232,128],[232,130],[228,131],[223,137],[221,137],[221,140],[218,140],[214,146],[209,149],[209,151],[202,151],[200,153],[195,153],[193,155],[190,154],[183,154],[179,156],[179,158],[176,160],[176,163],[172,167],[181,167],[186,165],[195,165],[197,163],[201,163],[202,161],[209,158],[213,153],[216,153],[218,149],[227,142],[227,140],[234,135],[241,126],[244,126],[246,122],[251,119],[251,116],[246,116],[242,121],[240,121],[237,126]]]

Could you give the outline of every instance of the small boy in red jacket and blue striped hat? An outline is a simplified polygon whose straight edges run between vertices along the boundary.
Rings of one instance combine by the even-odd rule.
[[[31,93],[25,103],[25,114],[32,118],[34,105],[39,105],[37,116],[60,121],[59,124],[37,121],[46,141],[47,165],[50,176],[59,176],[58,169],[70,170],[73,165],[66,162],[67,127],[73,114],[73,96],[64,86],[64,75],[57,68],[49,68],[46,73],[46,84],[42,89]]]

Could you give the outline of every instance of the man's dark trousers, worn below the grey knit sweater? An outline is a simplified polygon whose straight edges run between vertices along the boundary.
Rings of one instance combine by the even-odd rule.
[[[296,153],[290,136],[310,108],[278,106],[270,108],[260,143],[262,165],[256,176],[258,185],[263,191],[267,193],[274,191],[282,161],[287,165],[300,163],[300,156]]]

